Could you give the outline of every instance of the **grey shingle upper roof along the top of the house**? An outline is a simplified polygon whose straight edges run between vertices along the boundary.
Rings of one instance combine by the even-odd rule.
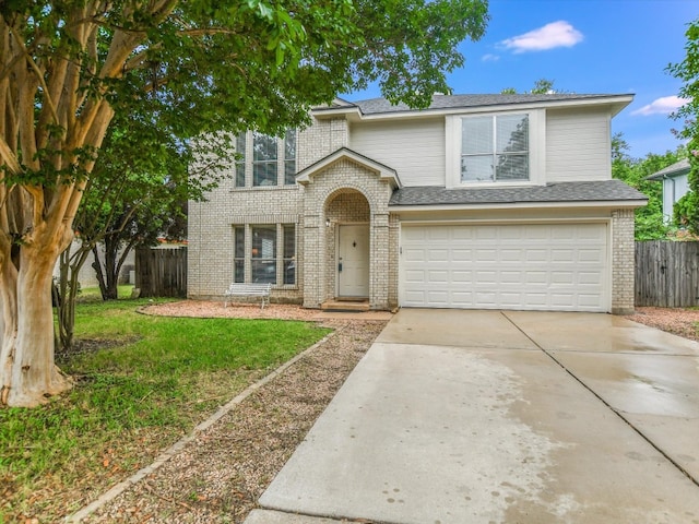
[[[499,106],[512,104],[536,104],[541,102],[566,102],[582,100],[593,98],[608,98],[611,96],[627,95],[578,95],[578,94],[557,94],[550,95],[434,95],[431,109],[452,109],[467,107]],[[368,100],[359,100],[354,103],[365,115],[378,115],[386,112],[411,111],[412,109],[405,104],[391,105],[386,98],[370,98]]]

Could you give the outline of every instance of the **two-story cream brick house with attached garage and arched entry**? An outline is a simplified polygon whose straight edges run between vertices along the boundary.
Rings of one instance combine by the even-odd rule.
[[[238,136],[230,179],[189,204],[188,294],[272,282],[321,308],[633,310],[633,210],[612,179],[631,95],[336,100],[312,124]]]

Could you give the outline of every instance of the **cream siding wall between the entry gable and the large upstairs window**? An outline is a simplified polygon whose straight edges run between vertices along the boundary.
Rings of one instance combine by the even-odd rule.
[[[403,186],[445,186],[445,120],[359,122],[350,148],[396,170]]]

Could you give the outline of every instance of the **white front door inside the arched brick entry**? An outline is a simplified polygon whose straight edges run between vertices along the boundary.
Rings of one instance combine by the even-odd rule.
[[[369,226],[337,230],[337,297],[369,296]]]

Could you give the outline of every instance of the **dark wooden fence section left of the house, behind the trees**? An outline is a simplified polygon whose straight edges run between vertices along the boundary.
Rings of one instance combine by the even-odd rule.
[[[187,297],[187,248],[138,249],[135,287],[142,297]]]

